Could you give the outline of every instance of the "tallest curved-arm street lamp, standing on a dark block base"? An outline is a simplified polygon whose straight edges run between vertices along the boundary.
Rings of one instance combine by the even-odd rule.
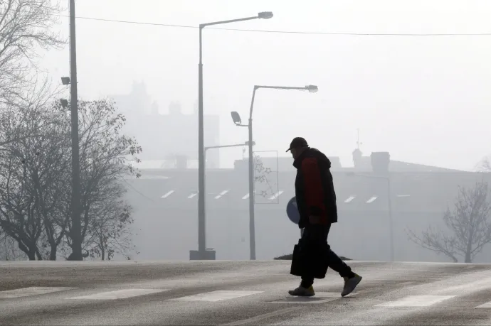
[[[72,0],[73,1],[73,0]],[[270,11],[258,13],[258,16],[232,19],[230,21],[216,21],[199,25],[199,65],[198,65],[198,251],[191,250],[190,259],[206,259],[205,241],[205,184],[204,184],[204,114],[203,114],[203,60],[202,40],[203,28],[206,26],[220,25],[223,23],[235,23],[238,21],[250,21],[253,19],[269,19],[273,17]]]

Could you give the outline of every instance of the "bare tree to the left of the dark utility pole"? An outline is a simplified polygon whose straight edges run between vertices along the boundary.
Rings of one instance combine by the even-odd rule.
[[[9,188],[5,189],[10,192],[0,196],[0,206],[5,208],[4,227],[12,229],[15,223],[23,223],[22,219],[7,221],[14,212],[13,205],[19,205],[19,196],[24,196],[24,202],[33,201],[36,227],[39,226],[37,222],[41,222],[43,233],[36,233],[31,246],[36,245],[39,250],[40,245],[44,249],[48,244],[51,252],[47,256],[56,260],[57,246],[65,235],[67,223],[60,203],[67,188],[66,175],[70,166],[70,127],[66,119],[63,120],[67,114],[65,110],[50,101],[56,94],[50,86],[45,80],[40,87],[17,96],[15,102],[4,103],[5,109],[1,113],[5,119],[0,121],[0,139],[3,140],[0,143],[0,181],[9,180],[5,184]],[[13,190],[21,191],[15,202]],[[17,225],[10,233],[6,232],[19,241],[22,230],[21,225]]]

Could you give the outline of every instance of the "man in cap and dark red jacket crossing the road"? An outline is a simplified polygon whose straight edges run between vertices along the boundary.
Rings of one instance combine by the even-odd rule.
[[[322,246],[326,243],[327,235],[332,223],[337,222],[337,205],[334,184],[332,183],[331,161],[323,153],[315,148],[310,148],[302,137],[293,138],[290,148],[297,168],[295,178],[295,197],[300,222],[298,227],[303,229],[302,241],[309,246]],[[352,293],[361,281],[361,276],[353,273],[342,259],[327,246],[326,256],[328,265],[332,270],[344,278],[344,288],[341,295],[344,297]],[[315,295],[312,284],[312,275],[302,276],[302,283],[295,290],[290,290],[290,295],[311,296]]]

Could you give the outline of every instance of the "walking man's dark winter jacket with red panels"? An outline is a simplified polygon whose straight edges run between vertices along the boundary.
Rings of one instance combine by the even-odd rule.
[[[331,161],[315,148],[307,148],[293,162],[297,168],[295,197],[300,213],[298,227],[309,226],[309,216],[320,217],[321,224],[337,222],[336,192],[332,183]]]

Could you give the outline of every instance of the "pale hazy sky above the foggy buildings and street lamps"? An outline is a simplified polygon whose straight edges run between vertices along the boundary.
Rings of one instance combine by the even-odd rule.
[[[63,0],[65,1],[65,0]],[[66,1],[68,6],[68,0]],[[198,26],[255,16],[223,28],[332,33],[491,33],[489,0],[83,0],[77,16]],[[68,13],[68,11],[67,11]],[[59,27],[68,36],[68,18]],[[133,80],[166,112],[198,95],[198,29],[78,19],[80,97],[130,91]],[[46,53],[54,79],[69,75],[69,48]],[[204,108],[220,114],[221,141],[239,143],[230,111],[245,120],[253,85],[318,85],[319,92],[261,90],[254,119],[258,150],[285,155],[304,136],[351,165],[362,151],[400,161],[471,169],[489,153],[490,36],[333,36],[204,31]],[[191,131],[196,133],[196,131]],[[221,152],[222,165],[241,148]]]

